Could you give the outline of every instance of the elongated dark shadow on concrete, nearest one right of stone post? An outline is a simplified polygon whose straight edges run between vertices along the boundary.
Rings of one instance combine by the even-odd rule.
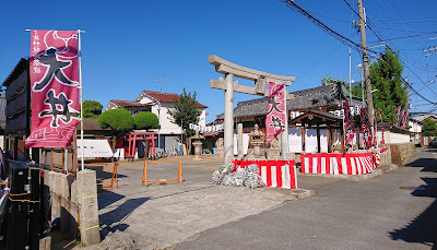
[[[150,198],[138,198],[138,199],[129,199],[125,201],[117,209],[102,214],[98,216],[98,219],[102,225],[102,239],[104,239],[109,233],[114,233],[116,230],[125,231],[129,225],[125,224],[125,219],[128,218],[134,210],[144,204]]]

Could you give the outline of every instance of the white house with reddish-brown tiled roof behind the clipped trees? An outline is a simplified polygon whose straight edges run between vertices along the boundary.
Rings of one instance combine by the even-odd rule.
[[[155,130],[155,132],[158,132],[160,135],[162,135],[160,141],[161,148],[168,151],[172,148],[170,144],[175,141],[175,138],[181,133],[181,127],[172,123],[173,119],[168,115],[168,109],[172,108],[175,99],[179,99],[178,94],[143,91],[135,100],[110,100],[105,110],[123,107],[128,109],[132,116],[135,116],[140,111],[150,111],[155,114],[158,117],[161,126],[158,130]],[[201,111],[199,124],[205,126],[208,107],[200,103],[197,103],[197,105],[198,109]]]

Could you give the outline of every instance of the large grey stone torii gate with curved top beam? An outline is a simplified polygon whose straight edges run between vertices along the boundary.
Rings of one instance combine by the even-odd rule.
[[[210,87],[225,91],[225,112],[224,112],[224,163],[227,163],[234,154],[234,92],[245,93],[250,95],[269,96],[269,91],[265,90],[268,82],[284,83],[285,86],[292,85],[295,76],[282,76],[270,74],[258,70],[252,70],[243,66],[237,66],[226,61],[215,55],[208,57],[210,64],[215,66],[215,71],[225,75],[225,79],[211,80]],[[251,80],[255,86],[247,86],[234,82],[235,78]],[[281,133],[281,157],[286,159],[288,152],[288,111],[286,100],[293,99],[294,95],[288,94],[285,90],[285,130]],[[265,110],[267,111],[267,110]]]

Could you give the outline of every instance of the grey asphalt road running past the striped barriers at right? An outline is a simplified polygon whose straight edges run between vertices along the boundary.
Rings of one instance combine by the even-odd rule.
[[[437,150],[418,148],[405,166],[369,180],[299,175],[298,184],[316,194],[175,249],[437,249]]]

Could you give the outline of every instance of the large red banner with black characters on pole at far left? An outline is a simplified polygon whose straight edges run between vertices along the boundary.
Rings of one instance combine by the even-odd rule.
[[[70,146],[79,122],[78,32],[32,31],[26,147]]]

